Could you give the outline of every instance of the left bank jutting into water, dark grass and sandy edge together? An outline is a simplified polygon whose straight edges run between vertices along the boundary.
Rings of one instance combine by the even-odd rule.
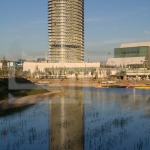
[[[28,106],[62,95],[60,90],[48,91],[24,78],[0,79],[0,110]]]

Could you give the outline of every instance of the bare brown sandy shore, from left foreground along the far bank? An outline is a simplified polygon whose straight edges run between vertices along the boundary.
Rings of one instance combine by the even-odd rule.
[[[61,90],[61,87],[116,87],[116,86],[124,86],[125,84],[134,85],[134,86],[144,86],[146,84],[150,84],[150,81],[127,81],[127,80],[119,80],[116,84],[101,84],[100,80],[93,80],[93,79],[51,79],[49,80],[49,84],[35,84],[37,87],[42,89],[44,93],[36,93],[36,95],[22,95],[22,96],[12,96],[7,100],[0,101],[0,110],[6,110],[10,108],[16,108],[26,105],[32,105],[38,103],[43,100],[48,100],[51,98],[57,98],[64,96],[64,91]],[[147,86],[148,87],[148,86]],[[45,89],[43,89],[45,88]],[[48,91],[49,90],[49,91]],[[46,92],[45,92],[46,91]],[[8,93],[7,93],[8,94]],[[19,97],[18,97],[19,96]]]

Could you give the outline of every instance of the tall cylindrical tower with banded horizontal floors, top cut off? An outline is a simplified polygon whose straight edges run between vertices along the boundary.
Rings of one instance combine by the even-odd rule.
[[[84,0],[48,0],[49,60],[84,60]]]

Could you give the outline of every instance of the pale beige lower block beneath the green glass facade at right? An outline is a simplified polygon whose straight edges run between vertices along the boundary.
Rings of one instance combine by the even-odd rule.
[[[120,66],[131,64],[143,64],[145,57],[108,58],[107,66]]]

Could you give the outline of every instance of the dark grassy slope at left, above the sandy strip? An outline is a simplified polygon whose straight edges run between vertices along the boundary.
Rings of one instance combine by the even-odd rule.
[[[0,100],[48,92],[24,78],[0,78]]]

